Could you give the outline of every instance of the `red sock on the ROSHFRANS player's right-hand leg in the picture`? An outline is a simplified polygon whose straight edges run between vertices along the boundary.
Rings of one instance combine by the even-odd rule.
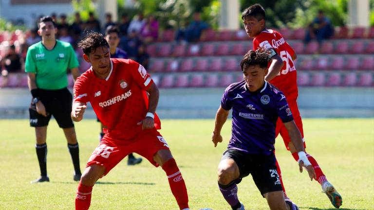
[[[188,195],[185,180],[183,180],[182,174],[179,171],[177,163],[174,158],[169,159],[162,165],[162,169],[168,176],[170,190],[177,200],[179,209],[188,208]]]

